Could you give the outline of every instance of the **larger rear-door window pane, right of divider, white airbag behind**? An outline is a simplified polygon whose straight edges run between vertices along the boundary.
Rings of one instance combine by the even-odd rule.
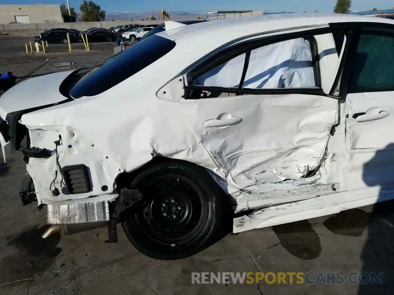
[[[251,51],[242,88],[314,87],[309,41],[298,38]]]

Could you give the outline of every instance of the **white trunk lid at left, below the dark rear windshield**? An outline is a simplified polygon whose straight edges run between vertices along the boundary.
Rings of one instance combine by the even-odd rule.
[[[0,97],[0,117],[10,112],[50,106],[67,100],[60,92],[61,82],[74,70],[30,78],[11,87]]]

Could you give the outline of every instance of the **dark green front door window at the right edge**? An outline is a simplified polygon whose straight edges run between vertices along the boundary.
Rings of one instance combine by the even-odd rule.
[[[394,88],[394,36],[364,33],[353,64],[351,88],[372,92]]]

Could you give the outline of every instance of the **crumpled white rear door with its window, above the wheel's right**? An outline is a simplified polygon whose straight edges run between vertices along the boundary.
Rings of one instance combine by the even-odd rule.
[[[319,169],[338,100],[321,89],[314,42],[296,38],[257,47],[200,70],[188,84],[204,90],[190,86],[181,100],[185,124],[229,183],[249,190]],[[332,37],[327,43],[318,51],[334,48],[336,55]]]

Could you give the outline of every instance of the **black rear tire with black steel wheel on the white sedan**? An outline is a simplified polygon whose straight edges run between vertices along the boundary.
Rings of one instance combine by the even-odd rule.
[[[132,188],[144,199],[124,212],[122,225],[141,253],[175,260],[216,242],[227,203],[203,168],[184,161],[161,162],[137,175]]]

